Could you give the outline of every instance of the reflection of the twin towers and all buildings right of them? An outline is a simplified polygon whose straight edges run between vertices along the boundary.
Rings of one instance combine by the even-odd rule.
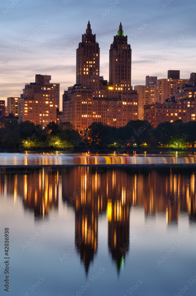
[[[146,218],[166,213],[167,226],[178,223],[180,210],[188,211],[190,220],[196,218],[194,173],[188,178],[170,171],[160,176],[156,170],[141,174],[138,170],[96,171],[87,167],[70,169],[67,174],[69,178],[62,181],[62,197],[75,208],[75,242],[86,273],[97,251],[98,216],[106,210],[108,248],[118,272],[129,250],[131,205],[144,206]],[[174,202],[173,195],[179,196]]]

